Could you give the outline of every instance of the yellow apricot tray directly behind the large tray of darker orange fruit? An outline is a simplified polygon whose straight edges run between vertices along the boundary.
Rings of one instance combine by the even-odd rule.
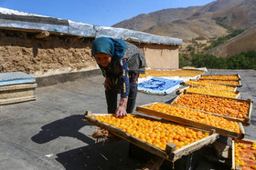
[[[240,91],[229,91],[229,90],[220,90],[216,88],[208,88],[202,86],[187,86],[182,89],[176,91],[176,95],[182,94],[185,90],[187,92],[195,93],[195,94],[204,94],[204,95],[219,95],[225,97],[232,97],[232,98],[240,98]]]

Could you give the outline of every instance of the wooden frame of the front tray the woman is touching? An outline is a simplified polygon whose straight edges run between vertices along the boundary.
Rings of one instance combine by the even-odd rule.
[[[96,120],[93,117],[96,115],[99,116],[99,115],[111,115],[111,114],[91,114],[91,111],[86,111],[83,121],[88,122],[92,125],[97,125],[103,129],[106,129],[109,132],[111,132],[113,135],[117,135],[117,136],[123,138],[124,140],[132,143],[133,145],[137,145],[154,155],[158,155],[162,158],[165,158],[166,160],[173,161],[173,162],[176,161],[177,159],[181,158],[182,155],[189,155],[190,153],[199,150],[200,148],[202,148],[205,145],[210,145],[210,144],[214,143],[219,138],[219,134],[216,134],[214,130],[210,130],[210,131],[207,131],[207,132],[209,132],[209,135],[207,137],[200,139],[197,142],[194,142],[190,145],[185,145],[182,148],[176,149],[175,144],[168,143],[166,145],[166,149],[162,150],[162,149],[156,147],[155,145],[151,145],[151,144],[141,140],[138,137],[127,134],[121,128],[118,128],[113,125],[108,125],[99,120]],[[142,115],[140,115],[140,116],[142,116]],[[142,116],[142,117],[147,117],[147,116]],[[149,118],[149,117],[147,117],[147,118]],[[151,119],[154,119],[154,118],[151,118]],[[157,120],[157,119],[155,119],[155,120]],[[172,124],[167,121],[161,121],[161,122],[165,122],[167,124]],[[200,130],[200,129],[196,129],[196,128],[192,128],[192,127],[187,127],[187,128],[194,129],[194,130]],[[204,131],[204,130],[201,130],[201,131]]]

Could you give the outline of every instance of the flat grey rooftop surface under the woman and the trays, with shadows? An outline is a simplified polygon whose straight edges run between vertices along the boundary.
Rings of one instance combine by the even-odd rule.
[[[254,102],[245,138],[256,139],[256,71],[208,70],[206,75],[241,77],[242,99]],[[37,100],[0,105],[0,169],[135,169],[144,162],[128,156],[126,141],[94,145],[95,126],[81,119],[86,110],[106,113],[101,75],[40,87]],[[176,97],[138,93],[136,105],[166,103]]]

